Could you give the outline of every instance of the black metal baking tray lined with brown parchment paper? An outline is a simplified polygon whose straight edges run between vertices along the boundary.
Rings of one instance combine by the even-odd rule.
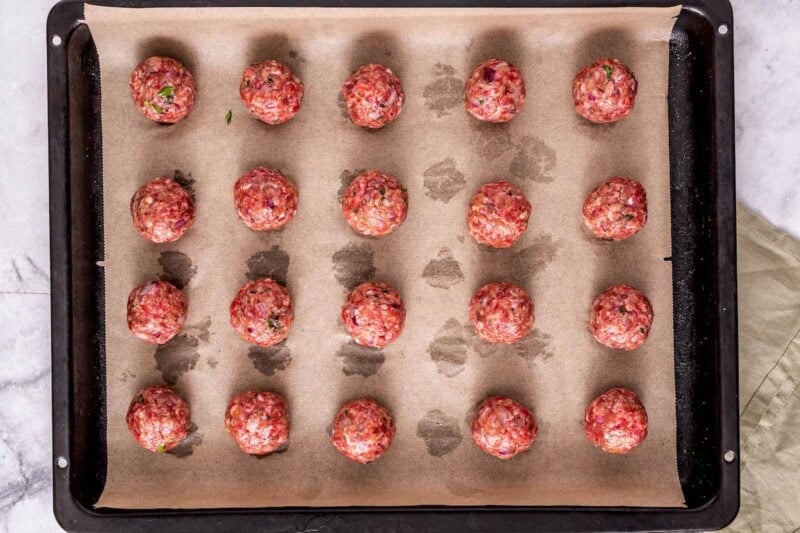
[[[118,7],[618,7],[670,0],[102,0]],[[670,42],[678,472],[686,508],[94,509],[106,475],[102,138],[82,2],[47,19],[54,510],[70,531],[650,531],[721,528],[739,508],[733,13],[688,0]]]

